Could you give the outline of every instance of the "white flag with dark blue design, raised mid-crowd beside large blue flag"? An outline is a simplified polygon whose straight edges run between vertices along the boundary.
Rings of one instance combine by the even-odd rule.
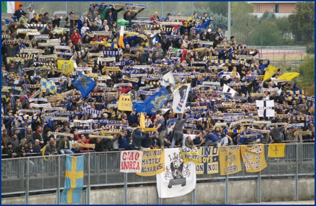
[[[186,83],[185,85],[177,88],[177,90],[173,92],[172,110],[174,113],[184,113],[185,104],[188,100],[190,87],[190,83]]]

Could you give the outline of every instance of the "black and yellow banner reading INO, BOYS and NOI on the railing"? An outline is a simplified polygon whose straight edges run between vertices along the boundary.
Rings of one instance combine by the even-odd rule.
[[[201,146],[199,148],[199,163],[196,164],[196,175],[218,173],[218,146]]]

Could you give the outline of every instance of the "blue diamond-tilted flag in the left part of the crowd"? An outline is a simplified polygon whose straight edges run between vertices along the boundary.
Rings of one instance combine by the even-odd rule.
[[[97,84],[89,77],[82,75],[80,71],[78,71],[78,77],[76,77],[73,82],[76,88],[81,92],[82,98],[88,96],[88,94],[93,90],[93,88]]]

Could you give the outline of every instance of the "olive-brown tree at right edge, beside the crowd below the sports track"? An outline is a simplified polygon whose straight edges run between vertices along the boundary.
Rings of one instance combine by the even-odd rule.
[[[308,95],[315,94],[315,57],[307,55],[300,67],[290,72],[300,73],[300,76],[292,80],[292,85],[296,81],[302,90],[308,92]]]

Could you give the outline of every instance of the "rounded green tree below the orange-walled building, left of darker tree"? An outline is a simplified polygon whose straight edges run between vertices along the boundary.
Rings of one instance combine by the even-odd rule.
[[[281,31],[273,21],[264,21],[253,31],[251,45],[273,46],[282,42]]]

